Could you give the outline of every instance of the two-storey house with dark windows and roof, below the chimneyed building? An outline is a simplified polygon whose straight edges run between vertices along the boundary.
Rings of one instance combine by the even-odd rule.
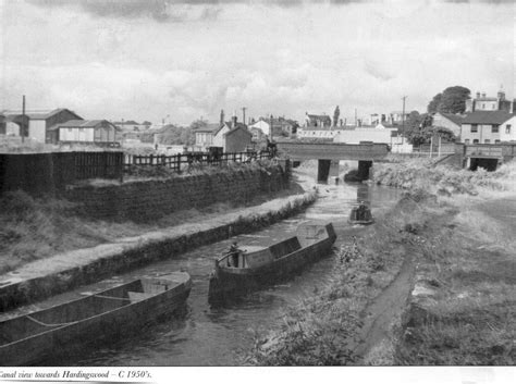
[[[501,129],[514,114],[505,111],[475,111],[467,113],[460,125],[460,143],[497,144]]]

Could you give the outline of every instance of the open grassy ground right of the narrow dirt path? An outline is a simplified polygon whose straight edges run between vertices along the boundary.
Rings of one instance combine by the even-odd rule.
[[[413,161],[374,178],[440,195],[411,231],[417,283],[395,363],[514,364],[516,164],[487,173]]]

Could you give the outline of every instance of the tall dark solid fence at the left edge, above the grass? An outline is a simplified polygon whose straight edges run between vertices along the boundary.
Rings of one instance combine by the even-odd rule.
[[[0,154],[0,193],[54,193],[85,178],[123,177],[123,152]]]

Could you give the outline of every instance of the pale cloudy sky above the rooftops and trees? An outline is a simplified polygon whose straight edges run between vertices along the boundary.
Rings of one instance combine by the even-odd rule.
[[[515,95],[513,0],[0,0],[0,110],[187,125]]]

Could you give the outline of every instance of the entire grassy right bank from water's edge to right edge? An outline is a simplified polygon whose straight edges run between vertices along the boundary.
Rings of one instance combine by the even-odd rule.
[[[325,285],[256,334],[245,363],[514,364],[516,164],[474,173],[417,159],[376,164],[373,178],[407,193],[344,244]],[[370,312],[407,260],[415,288],[385,298],[403,307],[393,319],[372,313],[386,322],[379,337]]]

